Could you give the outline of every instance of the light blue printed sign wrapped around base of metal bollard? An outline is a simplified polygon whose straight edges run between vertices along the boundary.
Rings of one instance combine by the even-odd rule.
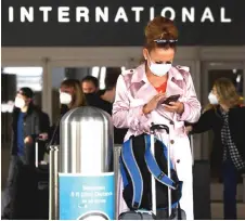
[[[59,174],[60,220],[114,220],[114,173]]]

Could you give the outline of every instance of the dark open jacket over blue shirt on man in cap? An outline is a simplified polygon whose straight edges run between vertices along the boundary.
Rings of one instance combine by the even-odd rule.
[[[17,154],[17,119],[18,114],[21,109],[14,108],[13,110],[13,122],[12,122],[12,145],[11,145],[11,154],[16,155]],[[35,161],[35,140],[36,138],[42,133],[48,132],[50,127],[50,120],[49,116],[41,112],[38,107],[30,104],[28,107],[27,113],[24,116],[24,122],[23,122],[23,135],[25,139],[26,136],[33,138],[33,144],[25,144],[24,146],[24,162],[29,165],[34,164]],[[44,144],[40,142],[39,148],[43,147]],[[40,158],[39,158],[40,159]]]

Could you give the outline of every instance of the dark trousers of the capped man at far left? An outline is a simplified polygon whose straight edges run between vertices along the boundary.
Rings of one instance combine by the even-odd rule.
[[[3,193],[2,202],[2,218],[14,218],[14,198],[16,195],[16,183],[21,168],[23,167],[23,158],[16,155],[12,155],[10,159],[9,176],[7,180],[7,186]]]

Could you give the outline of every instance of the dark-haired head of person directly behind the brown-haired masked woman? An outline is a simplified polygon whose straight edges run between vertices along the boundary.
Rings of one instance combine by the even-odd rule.
[[[99,80],[93,76],[86,76],[81,80],[81,90],[85,94],[96,93],[99,91]]]

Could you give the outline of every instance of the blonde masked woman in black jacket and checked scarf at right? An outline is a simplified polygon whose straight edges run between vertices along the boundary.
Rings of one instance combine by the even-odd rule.
[[[188,127],[191,133],[215,133],[212,168],[220,168],[223,180],[224,219],[236,220],[237,178],[245,172],[245,107],[235,87],[227,78],[216,80],[208,95],[210,104],[198,122]]]

